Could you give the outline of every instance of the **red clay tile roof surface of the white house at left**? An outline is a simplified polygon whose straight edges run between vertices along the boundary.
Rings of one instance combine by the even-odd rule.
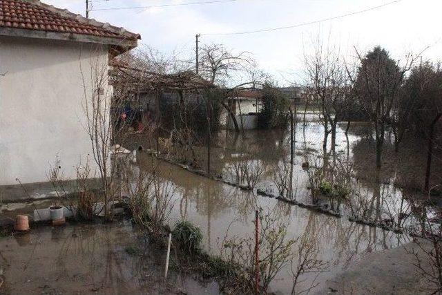
[[[140,35],[123,28],[86,19],[37,0],[0,0],[0,28],[2,27],[117,39],[141,39]]]

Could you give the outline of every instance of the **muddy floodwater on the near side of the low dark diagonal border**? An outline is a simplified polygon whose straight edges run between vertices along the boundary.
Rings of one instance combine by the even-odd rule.
[[[141,153],[137,162],[142,170],[151,169],[151,156]],[[177,220],[186,219],[198,225],[204,235],[204,249],[220,254],[220,240],[228,236],[253,235],[254,211],[276,212],[276,216],[287,225],[287,238],[302,235],[313,237],[319,253],[318,258],[327,261],[327,272],[319,274],[316,288],[325,287],[325,281],[345,271],[349,265],[372,251],[384,251],[398,247],[410,238],[374,227],[358,225],[345,218],[326,216],[315,211],[280,202],[274,198],[256,196],[222,182],[197,176],[180,167],[161,162],[160,175],[176,185],[171,226]],[[233,223],[232,223],[233,222]],[[296,252],[296,245],[293,252]],[[317,274],[306,274],[298,289],[306,289]],[[286,265],[271,284],[271,290],[289,294],[292,288],[291,269]],[[315,289],[316,289],[315,288]],[[313,290],[314,291],[314,290]]]

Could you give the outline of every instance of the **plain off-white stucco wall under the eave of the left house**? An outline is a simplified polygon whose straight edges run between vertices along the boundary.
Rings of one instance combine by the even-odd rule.
[[[91,64],[107,67],[105,46],[0,37],[0,186],[45,182],[57,155],[66,178],[88,154],[94,166],[83,108]]]

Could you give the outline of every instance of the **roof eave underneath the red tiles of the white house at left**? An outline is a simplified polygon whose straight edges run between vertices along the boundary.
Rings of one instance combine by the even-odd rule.
[[[119,48],[125,48],[126,51],[137,47],[138,44],[137,39],[99,37],[94,35],[75,34],[72,32],[50,32],[43,30],[28,30],[21,28],[4,28],[4,27],[0,28],[0,36],[106,44],[106,45],[118,46]]]

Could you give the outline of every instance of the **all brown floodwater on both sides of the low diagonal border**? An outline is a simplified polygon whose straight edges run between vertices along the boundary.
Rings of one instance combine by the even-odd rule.
[[[300,115],[298,115],[299,120]],[[384,167],[376,173],[374,161],[374,140],[370,124],[353,123],[345,135],[346,124],[340,124],[336,135],[336,148],[332,150],[329,136],[327,148],[323,149],[323,126],[316,115],[307,113],[306,124],[298,122],[294,134],[294,165],[291,172],[291,185],[294,198],[304,203],[311,203],[308,173],[302,163],[309,161],[324,169],[336,169],[336,163],[347,163],[352,170],[352,180],[363,196],[363,203],[368,211],[364,218],[375,221],[397,218],[401,212],[410,213],[403,196],[410,196],[423,182],[423,153],[419,142],[407,142],[406,148],[394,153],[390,138],[387,138],[384,152]],[[137,144],[142,142],[137,140]],[[196,149],[199,155],[198,168],[206,170],[206,149]],[[258,182],[258,189],[271,191],[278,195],[274,184],[275,169],[278,165],[290,161],[290,133],[288,130],[247,131],[236,134],[221,131],[211,143],[211,173],[224,179],[235,180],[232,172],[233,163],[247,155],[247,160],[260,162],[264,172]],[[137,166],[141,170],[151,167],[151,156],[146,153],[137,155]],[[311,164],[310,164],[311,165]],[[331,168],[330,168],[331,167]],[[211,254],[220,253],[220,241],[228,231],[228,236],[253,235],[255,209],[276,213],[287,225],[288,238],[300,236],[314,237],[318,249],[318,258],[329,263],[326,272],[318,276],[320,283],[316,289],[325,287],[323,282],[331,279],[344,269],[363,259],[372,251],[383,251],[410,242],[407,234],[394,234],[392,231],[359,225],[348,221],[348,217],[361,217],[354,208],[356,200],[347,200],[336,206],[329,204],[343,214],[343,218],[327,216],[309,211],[274,198],[257,196],[255,191],[242,191],[228,184],[200,177],[178,166],[161,164],[162,176],[171,180],[177,187],[172,211],[171,225],[180,219],[188,219],[198,225],[204,233],[204,248]],[[432,181],[441,178],[436,167]],[[403,184],[407,184],[405,187]],[[416,193],[416,198],[421,198]],[[405,200],[405,201],[404,201]],[[323,200],[324,202],[324,200]],[[327,202],[327,200],[325,200]],[[331,202],[331,201],[330,201]],[[407,225],[412,226],[410,218]],[[296,252],[296,245],[293,251]],[[297,289],[307,289],[317,274],[306,274],[305,281]],[[291,292],[292,280],[290,265],[283,267],[271,285],[271,290],[287,294]]]

